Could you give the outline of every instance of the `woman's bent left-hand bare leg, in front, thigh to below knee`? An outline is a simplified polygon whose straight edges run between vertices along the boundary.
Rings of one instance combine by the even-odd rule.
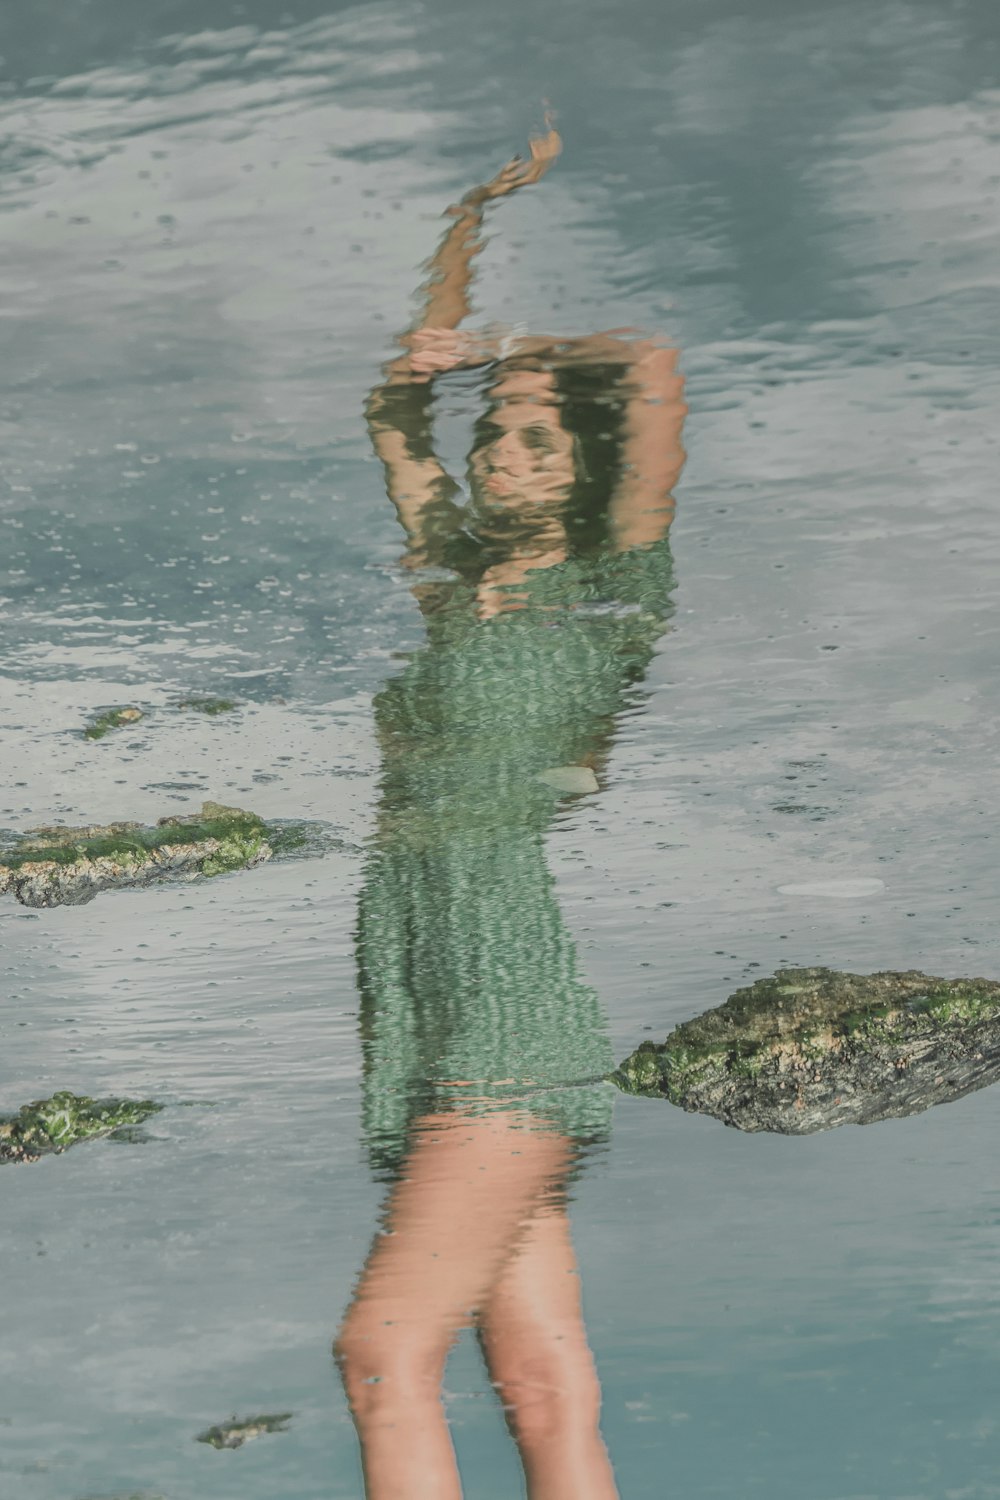
[[[513,1113],[420,1124],[336,1342],[369,1500],[460,1500],[444,1364],[567,1162]]]

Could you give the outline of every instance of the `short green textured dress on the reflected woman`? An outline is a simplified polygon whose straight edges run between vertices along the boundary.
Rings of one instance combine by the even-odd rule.
[[[607,1024],[546,867],[556,766],[600,764],[664,630],[666,538],[528,574],[490,620],[450,580],[375,702],[382,795],[358,908],[364,1134],[394,1173],[414,1120],[517,1110],[606,1136]],[[520,586],[519,586],[520,588]]]

